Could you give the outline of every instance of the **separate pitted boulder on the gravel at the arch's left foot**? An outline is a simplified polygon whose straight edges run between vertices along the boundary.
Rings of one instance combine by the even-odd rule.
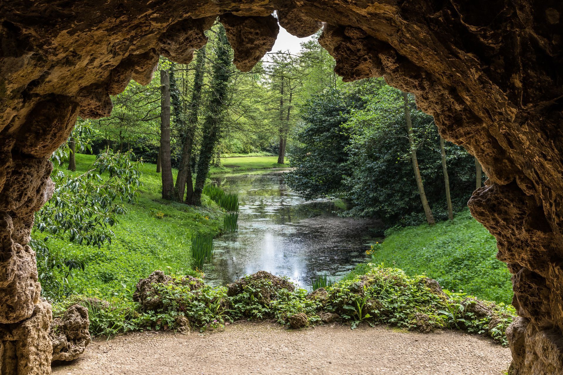
[[[52,360],[77,359],[90,344],[88,309],[81,305],[70,306],[60,318],[51,323]]]

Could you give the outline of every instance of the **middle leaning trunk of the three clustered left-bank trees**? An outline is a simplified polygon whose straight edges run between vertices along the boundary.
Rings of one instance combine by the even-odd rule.
[[[186,196],[185,202],[191,204],[191,198],[194,194],[194,183],[191,179],[191,153],[194,146],[194,136],[195,128],[198,123],[199,108],[202,106],[202,88],[203,88],[203,73],[205,69],[205,47],[197,52],[196,62],[195,62],[195,76],[194,76],[194,88],[191,92],[191,101],[189,106],[189,117],[185,121],[184,126],[184,139],[182,146],[182,159],[180,161],[180,167],[178,168],[178,176],[176,178],[175,194],[176,199],[180,202],[184,202],[184,196]],[[174,80],[172,80],[174,82]],[[175,112],[175,118],[183,118],[179,112],[180,103],[173,103],[173,110]]]

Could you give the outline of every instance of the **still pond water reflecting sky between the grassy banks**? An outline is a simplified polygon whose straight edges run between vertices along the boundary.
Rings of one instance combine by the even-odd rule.
[[[213,178],[239,195],[239,231],[215,239],[208,282],[227,284],[266,270],[311,290],[316,275],[335,280],[367,259],[373,221],[339,217],[346,210],[340,200],[305,201],[285,184],[286,171]]]

